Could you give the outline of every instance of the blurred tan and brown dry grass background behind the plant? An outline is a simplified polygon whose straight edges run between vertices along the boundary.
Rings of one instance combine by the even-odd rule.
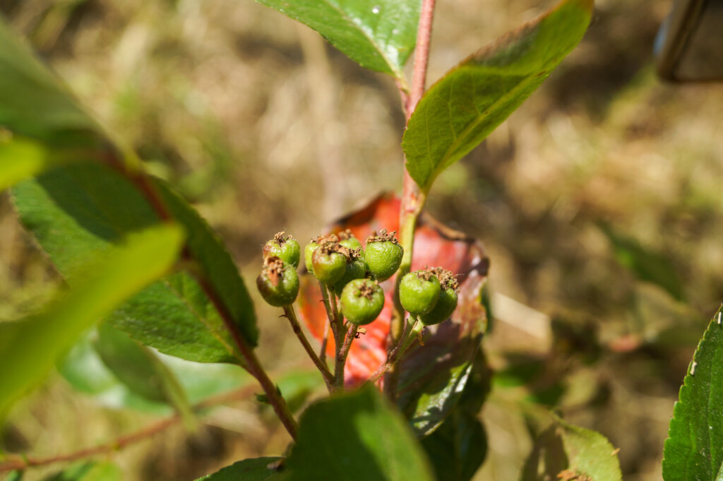
[[[438,2],[429,80],[551,6]],[[625,479],[660,477],[673,401],[723,299],[723,85],[656,78],[668,9],[597,0],[581,46],[432,190],[429,211],[492,260],[484,346],[496,375],[476,479],[518,479],[542,406],[620,447]],[[0,0],[0,12],[197,206],[247,285],[276,231],[305,242],[401,188],[393,82],[250,0]],[[33,312],[59,281],[0,195],[0,320]],[[278,312],[257,310],[273,373],[307,362]],[[0,450],[60,454],[156,416],[98,406],[53,375],[14,408]],[[123,479],[191,480],[285,447],[253,398],[204,420],[115,455]]]

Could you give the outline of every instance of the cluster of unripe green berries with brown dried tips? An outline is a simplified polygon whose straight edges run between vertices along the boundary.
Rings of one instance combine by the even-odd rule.
[[[379,283],[396,273],[404,254],[394,234],[386,229],[375,232],[367,237],[366,249],[348,230],[322,234],[304,247],[307,270],[322,289],[338,298],[341,314],[349,323],[371,323],[382,311],[385,297]],[[264,245],[264,268],[257,286],[270,305],[286,307],[296,299],[300,254],[299,243],[283,232]],[[457,307],[457,290],[453,273],[425,268],[401,278],[399,300],[412,318],[432,325],[450,317]]]

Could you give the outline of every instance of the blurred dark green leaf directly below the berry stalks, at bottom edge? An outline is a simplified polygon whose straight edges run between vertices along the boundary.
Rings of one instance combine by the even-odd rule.
[[[433,479],[407,422],[372,386],[309,406],[287,461],[291,480]]]

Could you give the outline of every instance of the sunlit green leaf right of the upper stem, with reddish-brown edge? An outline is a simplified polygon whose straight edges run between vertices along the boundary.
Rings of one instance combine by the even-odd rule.
[[[406,168],[424,192],[512,114],[581,41],[592,0],[564,0],[450,70],[414,109]]]

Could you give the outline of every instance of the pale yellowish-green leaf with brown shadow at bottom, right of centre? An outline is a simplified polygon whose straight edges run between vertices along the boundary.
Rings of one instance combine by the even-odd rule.
[[[522,481],[543,481],[569,475],[591,481],[621,481],[617,450],[600,433],[569,424],[553,416],[554,422],[536,440],[522,472]],[[562,476],[560,476],[562,474]]]

